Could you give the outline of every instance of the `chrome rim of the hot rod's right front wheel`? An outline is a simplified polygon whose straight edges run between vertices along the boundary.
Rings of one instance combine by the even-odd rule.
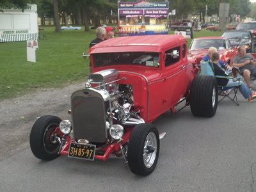
[[[150,168],[155,160],[157,154],[157,139],[154,132],[149,132],[144,143],[143,161],[147,168]]]

